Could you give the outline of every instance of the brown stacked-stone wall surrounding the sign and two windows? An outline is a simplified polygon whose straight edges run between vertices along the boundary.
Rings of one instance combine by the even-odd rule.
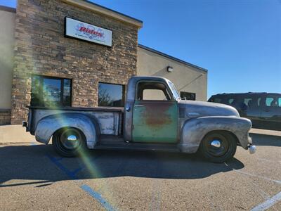
[[[112,47],[64,37],[65,16],[112,30]],[[18,0],[11,123],[27,119],[32,74],[72,79],[72,106],[98,106],[98,82],[136,75],[138,29],[60,0]]]

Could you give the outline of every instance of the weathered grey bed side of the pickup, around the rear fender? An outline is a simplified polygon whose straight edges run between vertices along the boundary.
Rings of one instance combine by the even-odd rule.
[[[37,106],[28,106],[30,109],[27,131],[34,134],[37,123],[42,118],[48,115],[57,115],[61,113],[84,113],[93,117],[100,127],[101,135],[121,135],[122,134],[122,122],[124,108],[107,108],[107,107],[96,107],[96,108],[46,108]]]

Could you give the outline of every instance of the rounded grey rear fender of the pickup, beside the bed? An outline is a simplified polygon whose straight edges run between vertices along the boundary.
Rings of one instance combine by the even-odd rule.
[[[93,117],[81,113],[61,113],[42,118],[35,129],[35,139],[48,143],[51,136],[63,127],[75,127],[84,133],[88,148],[94,148],[100,129]]]

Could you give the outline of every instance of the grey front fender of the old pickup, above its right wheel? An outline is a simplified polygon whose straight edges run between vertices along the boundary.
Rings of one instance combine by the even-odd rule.
[[[233,133],[242,148],[247,149],[248,144],[251,143],[250,129],[251,121],[242,117],[208,116],[193,118],[183,124],[178,148],[185,153],[196,153],[206,134],[214,130],[224,130]]]

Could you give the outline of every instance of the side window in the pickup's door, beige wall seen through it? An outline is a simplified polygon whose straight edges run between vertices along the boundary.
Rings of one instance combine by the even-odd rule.
[[[166,85],[159,82],[138,82],[136,100],[138,101],[171,101]]]

